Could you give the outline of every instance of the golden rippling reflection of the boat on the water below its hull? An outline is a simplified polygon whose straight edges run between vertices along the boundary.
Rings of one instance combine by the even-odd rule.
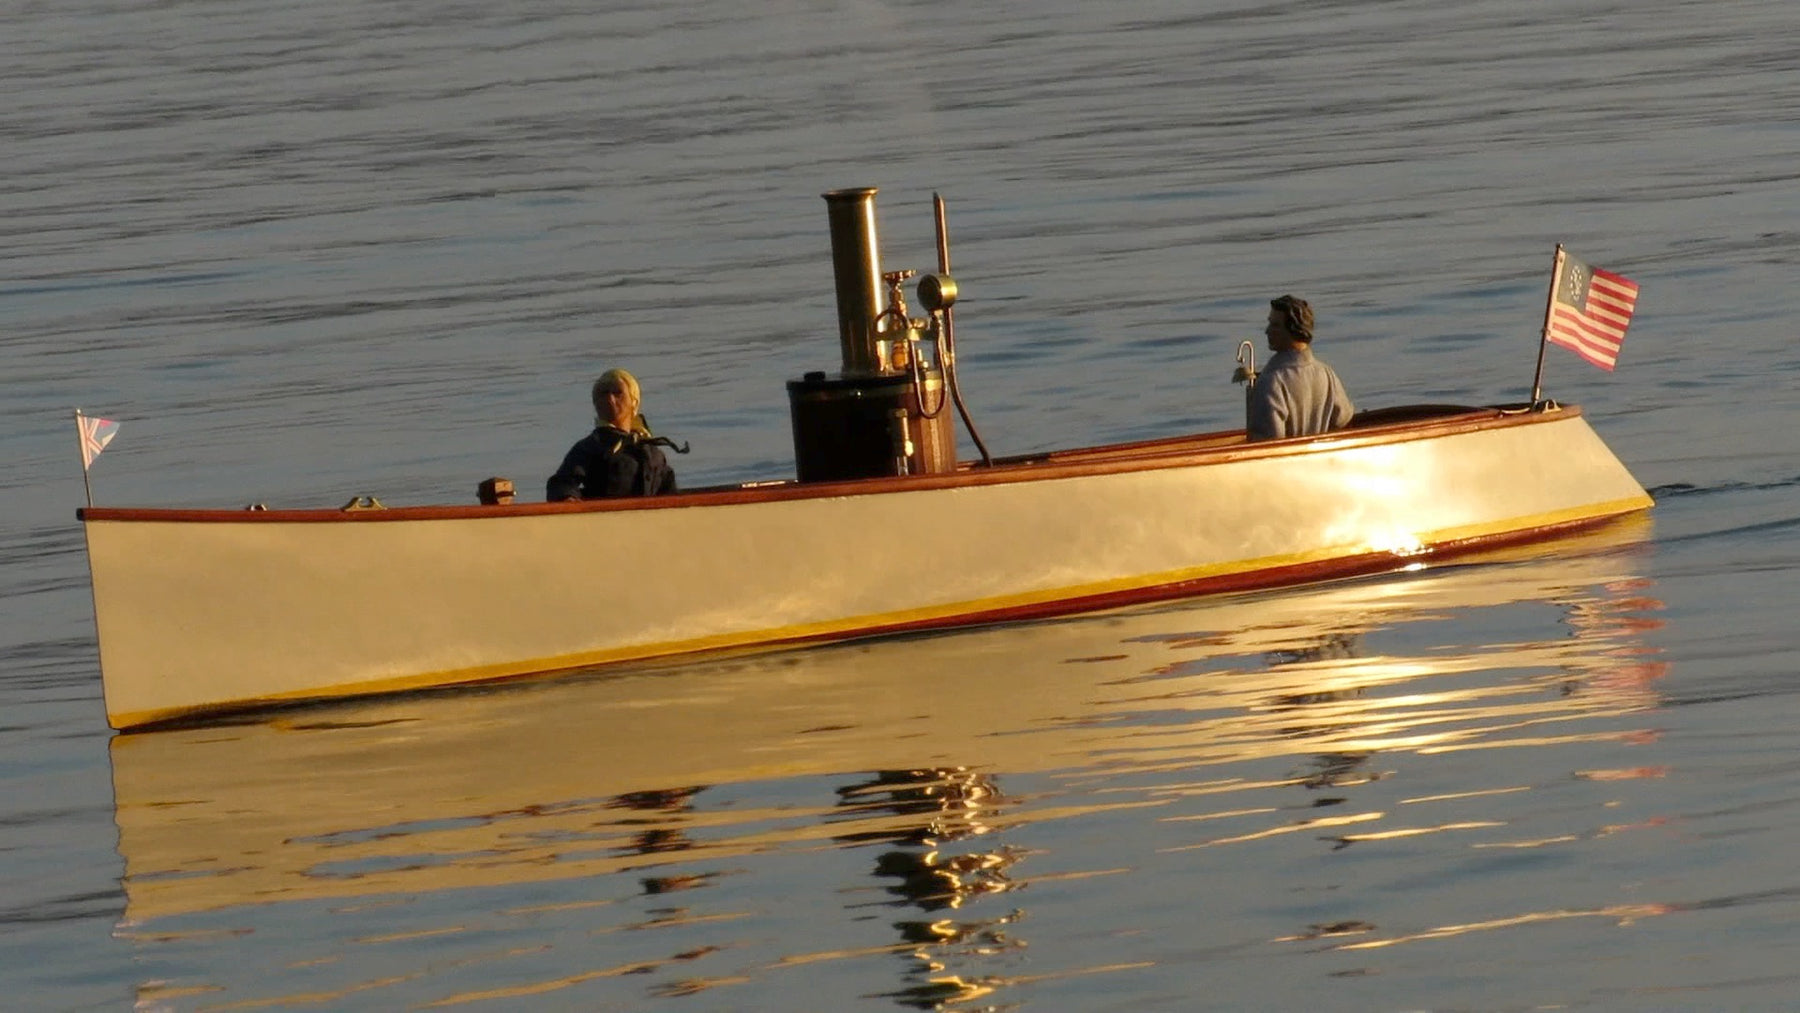
[[[851,995],[950,1008],[1120,972],[1055,945],[1024,966],[1026,937],[1078,932],[1044,891],[1296,831],[1400,833],[1345,801],[1408,754],[1642,736],[1660,673],[1645,529],[1555,558],[117,736],[121,936],[185,968],[149,1000],[679,995],[823,964]],[[1431,788],[1409,801],[1480,786]],[[1076,824],[1107,829],[1046,829]],[[376,943],[371,970],[355,954]],[[281,952],[245,957],[265,946]]]

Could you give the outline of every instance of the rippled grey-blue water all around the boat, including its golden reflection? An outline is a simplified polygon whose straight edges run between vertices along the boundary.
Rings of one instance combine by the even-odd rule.
[[[1800,103],[1775,0],[0,13],[0,973],[25,1008],[1784,1008]],[[997,453],[1552,349],[1652,525],[1481,567],[117,738],[97,502],[535,491],[626,365],[792,473],[819,193],[949,202]],[[965,455],[972,444],[963,443]]]

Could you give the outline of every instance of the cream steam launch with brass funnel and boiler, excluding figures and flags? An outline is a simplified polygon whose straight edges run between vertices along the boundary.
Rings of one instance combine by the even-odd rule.
[[[788,381],[796,479],[558,504],[83,509],[108,722],[1285,587],[1651,506],[1580,408],[1535,392],[1301,439],[995,459],[956,385],[941,203],[929,317],[913,318],[911,272],[880,272],[875,191],[826,202],[842,371]],[[952,403],[981,462],[956,461]],[[914,531],[923,543],[889,536]],[[605,545],[607,565],[571,567],[571,545]],[[657,579],[619,596],[610,572]]]

